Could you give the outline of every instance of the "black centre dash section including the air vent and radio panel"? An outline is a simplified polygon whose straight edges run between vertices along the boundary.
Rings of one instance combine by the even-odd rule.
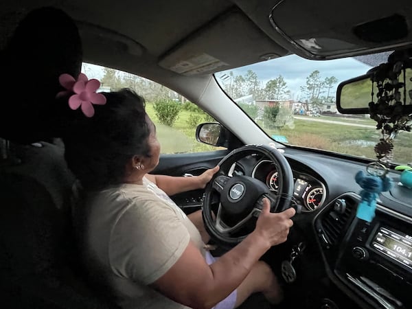
[[[345,224],[333,205],[314,221],[330,275],[371,308],[412,308],[412,219],[378,205],[369,223],[355,216],[355,194],[336,201],[352,209]]]

